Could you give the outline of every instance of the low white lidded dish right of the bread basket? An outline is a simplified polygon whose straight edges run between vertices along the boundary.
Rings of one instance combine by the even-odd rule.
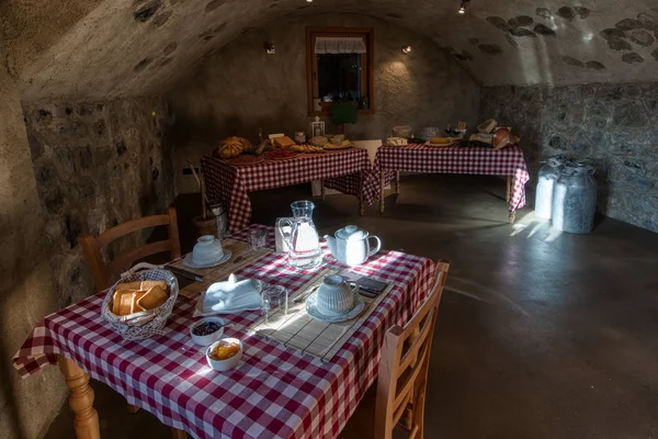
[[[254,279],[238,281],[235,274],[226,282],[213,283],[196,304],[194,316],[234,314],[249,309],[260,309],[262,283]]]

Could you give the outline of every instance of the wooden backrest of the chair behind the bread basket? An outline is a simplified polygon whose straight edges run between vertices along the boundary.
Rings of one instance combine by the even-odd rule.
[[[158,240],[146,244],[141,247],[137,247],[120,255],[113,261],[105,264],[101,255],[101,248],[129,233],[164,225],[169,232],[169,239]],[[87,263],[91,269],[95,286],[99,291],[110,288],[112,285],[112,277],[118,275],[126,271],[137,259],[163,251],[170,251],[171,259],[175,259],[181,256],[178,222],[175,209],[173,207],[168,209],[167,214],[164,215],[144,216],[137,219],[131,219],[103,232],[99,236],[82,236],[78,239],[78,241],[82,246],[84,259],[87,259]]]

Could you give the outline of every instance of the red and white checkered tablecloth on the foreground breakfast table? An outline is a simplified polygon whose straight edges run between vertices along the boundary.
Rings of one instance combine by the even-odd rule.
[[[268,230],[273,234],[272,227]],[[246,239],[246,233],[234,237]],[[326,249],[325,256],[337,264]],[[260,314],[245,312],[226,316],[235,326],[225,331],[242,340],[242,363],[215,372],[206,365],[205,348],[190,338],[194,299],[179,296],[166,335],[124,342],[101,318],[100,293],[42,320],[13,363],[27,376],[55,363],[57,354],[71,358],[129,404],[195,438],[332,438],[377,374],[386,329],[406,323],[426,299],[434,263],[381,251],[358,271],[395,288],[329,362],[247,334]],[[271,254],[237,274],[284,285],[294,294],[316,272],[292,270],[284,256]]]

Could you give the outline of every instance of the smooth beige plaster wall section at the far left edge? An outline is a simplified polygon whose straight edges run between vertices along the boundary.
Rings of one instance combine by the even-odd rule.
[[[2,50],[0,47],[0,55]],[[57,368],[29,380],[11,358],[33,326],[59,308],[43,246],[44,216],[14,81],[0,68],[0,438],[35,438],[61,406]]]

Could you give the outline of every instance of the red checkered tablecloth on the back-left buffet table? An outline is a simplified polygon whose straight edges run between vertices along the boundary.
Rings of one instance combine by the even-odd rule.
[[[290,160],[268,160],[248,166],[231,166],[213,156],[204,156],[201,165],[211,200],[228,205],[229,230],[239,230],[249,224],[249,192],[330,179],[327,181],[329,188],[360,196],[360,173],[372,170],[367,151],[361,148],[302,154]],[[345,177],[338,178],[341,176]]]

